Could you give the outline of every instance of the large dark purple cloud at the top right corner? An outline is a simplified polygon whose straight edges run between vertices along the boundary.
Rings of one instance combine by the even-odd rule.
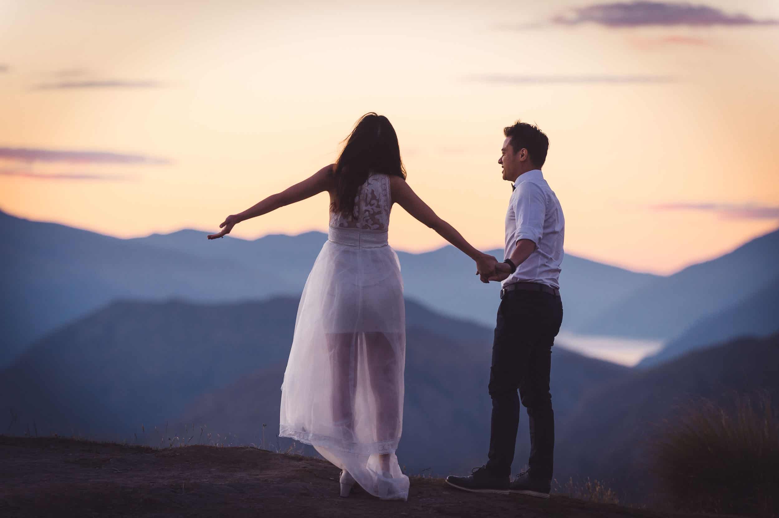
[[[574,8],[555,16],[553,23],[578,25],[597,23],[607,27],[636,26],[746,26],[777,25],[777,19],[755,19],[741,12],[727,13],[708,5],[687,2],[614,2]]]

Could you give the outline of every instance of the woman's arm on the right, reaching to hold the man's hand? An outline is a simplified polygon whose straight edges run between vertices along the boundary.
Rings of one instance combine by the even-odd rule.
[[[433,209],[417,196],[406,183],[406,180],[401,177],[390,177],[390,188],[392,189],[393,201],[397,201],[397,204],[403,207],[406,212],[435,230],[445,240],[476,261],[477,274],[484,275],[486,278],[495,272],[495,264],[498,263],[498,260],[492,255],[485,254],[481,250],[472,247],[471,243],[468,243],[453,226],[439,218],[433,212]],[[485,278],[482,279],[482,282],[487,283],[488,281]]]

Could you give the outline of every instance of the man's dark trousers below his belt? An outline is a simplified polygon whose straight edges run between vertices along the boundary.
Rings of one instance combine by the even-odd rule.
[[[552,480],[555,414],[549,370],[560,324],[559,296],[517,290],[506,292],[500,303],[489,376],[492,430],[487,468],[492,474],[511,474],[521,400],[530,425],[528,474],[533,480]]]

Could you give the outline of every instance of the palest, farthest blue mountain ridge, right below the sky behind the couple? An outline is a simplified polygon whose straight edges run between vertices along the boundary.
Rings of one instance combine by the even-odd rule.
[[[311,264],[327,240],[325,233],[309,232],[299,236],[265,236],[258,240],[241,240],[227,236],[217,243],[203,246],[205,232],[180,230],[171,234],[152,234],[138,238],[139,243],[209,257],[229,257],[249,268],[262,264],[268,271],[288,275],[285,280],[297,282],[302,291]],[[224,241],[224,243],[222,242]],[[487,250],[502,259],[503,250]],[[404,277],[405,296],[450,316],[495,326],[500,286],[477,282],[473,261],[460,250],[447,245],[424,254],[397,252]],[[298,259],[290,264],[289,257]],[[305,261],[300,261],[304,259]],[[657,279],[657,275],[636,273],[566,254],[560,276],[566,306],[566,329],[576,328],[633,290]]]

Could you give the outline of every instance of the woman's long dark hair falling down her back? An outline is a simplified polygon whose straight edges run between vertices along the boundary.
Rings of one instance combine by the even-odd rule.
[[[357,190],[372,173],[406,178],[395,128],[387,117],[369,112],[354,125],[338,157],[334,171],[336,195],[330,210],[351,218]]]

